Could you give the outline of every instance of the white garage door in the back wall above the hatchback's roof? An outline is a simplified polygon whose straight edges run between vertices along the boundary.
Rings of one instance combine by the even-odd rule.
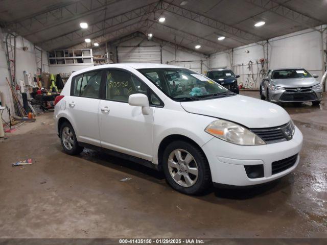
[[[160,46],[119,46],[119,63],[161,63]]]

